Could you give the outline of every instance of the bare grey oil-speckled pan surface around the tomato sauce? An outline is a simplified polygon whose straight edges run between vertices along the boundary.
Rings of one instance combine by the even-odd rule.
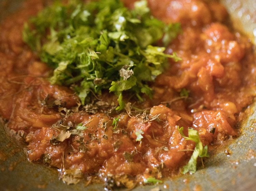
[[[256,1],[222,1],[237,27],[243,27],[244,32],[255,40]],[[20,1],[0,0],[0,19],[15,11],[19,5]],[[199,168],[195,174],[167,179],[164,184],[157,186],[138,186],[134,191],[147,191],[156,187],[162,191],[256,190],[256,102],[248,109],[248,118],[241,124],[241,129],[240,137],[212,152],[211,157],[205,160],[205,167]],[[56,169],[29,162],[19,144],[6,135],[0,124],[0,191],[104,190],[101,184],[87,187],[83,182],[69,186],[63,184]],[[232,154],[228,155],[225,150]]]

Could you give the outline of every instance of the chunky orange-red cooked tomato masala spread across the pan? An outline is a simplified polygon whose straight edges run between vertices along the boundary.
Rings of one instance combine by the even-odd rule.
[[[135,1],[123,2],[132,9]],[[150,84],[152,99],[131,99],[121,112],[107,91],[81,105],[72,89],[48,82],[53,69],[22,40],[24,22],[46,4],[27,0],[0,25],[0,115],[26,141],[28,160],[60,169],[68,184],[98,176],[107,187],[132,188],[178,174],[188,163],[196,143],[178,127],[186,136],[197,130],[203,146],[239,135],[242,112],[255,97],[256,59],[252,42],[226,25],[222,4],[148,0],[157,19],[181,23],[166,54],[182,60],[169,59]]]

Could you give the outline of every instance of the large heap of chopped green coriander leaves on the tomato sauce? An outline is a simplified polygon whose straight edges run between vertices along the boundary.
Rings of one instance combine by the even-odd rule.
[[[163,44],[180,33],[180,24],[166,25],[150,14],[147,1],[138,1],[133,10],[120,0],[59,1],[46,7],[24,25],[23,40],[42,62],[55,70],[52,84],[72,87],[89,103],[93,94],[109,90],[124,109],[122,92],[152,97],[148,82],[154,81],[167,67]]]

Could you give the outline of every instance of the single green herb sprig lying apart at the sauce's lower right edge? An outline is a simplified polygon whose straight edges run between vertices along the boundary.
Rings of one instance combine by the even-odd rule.
[[[188,137],[186,137],[183,133],[183,127],[178,126],[178,131],[186,140],[191,140],[196,143],[195,150],[189,159],[188,163],[182,168],[182,174],[186,174],[189,172],[190,174],[194,174],[197,170],[197,158],[199,157],[209,157],[208,154],[208,146],[205,145],[203,147],[203,143],[200,141],[199,133],[195,129],[188,129]]]

